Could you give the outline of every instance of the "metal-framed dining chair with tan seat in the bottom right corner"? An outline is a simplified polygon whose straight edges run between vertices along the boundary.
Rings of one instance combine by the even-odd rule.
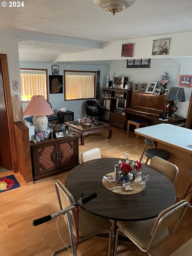
[[[117,221],[114,256],[117,255],[120,231],[142,251],[152,256],[149,250],[160,245],[175,233],[187,208],[188,203],[182,200],[160,212],[157,218],[144,221]]]

